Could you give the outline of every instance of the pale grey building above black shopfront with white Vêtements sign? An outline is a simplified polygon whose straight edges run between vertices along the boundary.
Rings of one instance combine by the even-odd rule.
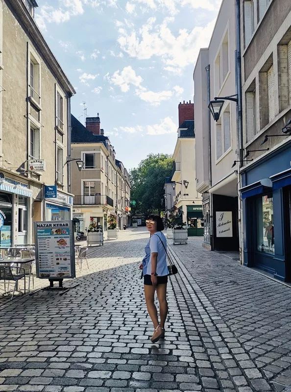
[[[208,109],[215,97],[236,94],[235,33],[235,1],[223,0],[194,69],[196,189],[203,198],[203,246],[211,250],[239,250],[236,103],[225,99],[218,122]]]

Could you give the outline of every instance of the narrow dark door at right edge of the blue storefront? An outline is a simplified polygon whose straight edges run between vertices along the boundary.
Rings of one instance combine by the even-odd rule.
[[[284,189],[286,281],[291,282],[291,187]]]

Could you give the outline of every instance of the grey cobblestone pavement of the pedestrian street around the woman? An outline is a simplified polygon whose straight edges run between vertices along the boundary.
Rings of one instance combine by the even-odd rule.
[[[126,230],[92,248],[62,296],[0,300],[0,391],[291,391],[291,289],[200,238],[170,246],[166,338],[150,343],[137,270],[147,237]]]

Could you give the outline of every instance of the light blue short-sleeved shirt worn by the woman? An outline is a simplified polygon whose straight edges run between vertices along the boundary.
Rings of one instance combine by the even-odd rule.
[[[151,253],[158,253],[157,259],[157,274],[158,276],[165,276],[169,274],[168,266],[167,266],[167,253],[164,248],[167,249],[167,240],[164,234],[161,231],[156,232],[152,235],[145,246],[145,257],[143,260],[143,273],[144,275],[151,274]]]

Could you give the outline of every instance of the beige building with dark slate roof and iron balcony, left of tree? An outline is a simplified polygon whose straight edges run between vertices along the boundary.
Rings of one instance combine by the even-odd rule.
[[[72,166],[73,221],[75,231],[85,232],[90,223],[107,229],[107,220],[114,215],[122,230],[128,224],[130,183],[128,172],[104,130],[100,118],[86,119],[86,127],[72,115],[71,158],[84,162],[81,171]]]

